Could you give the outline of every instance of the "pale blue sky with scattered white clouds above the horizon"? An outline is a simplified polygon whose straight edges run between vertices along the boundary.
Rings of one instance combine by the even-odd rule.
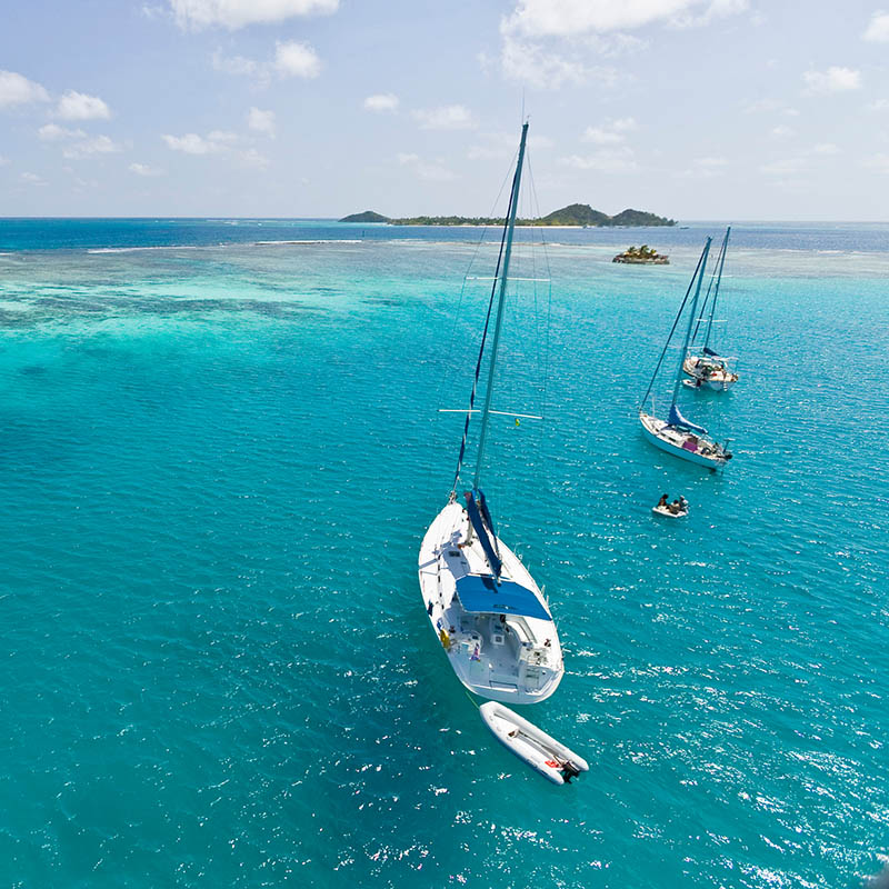
[[[885,8],[879,6],[885,3]],[[889,219],[889,0],[31,0],[0,216]]]

